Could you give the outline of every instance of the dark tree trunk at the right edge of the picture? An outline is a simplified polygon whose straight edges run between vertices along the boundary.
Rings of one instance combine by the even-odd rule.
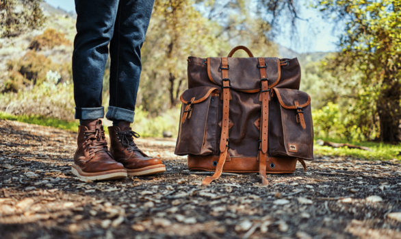
[[[400,107],[401,87],[397,80],[383,84],[376,108],[380,121],[380,140],[382,142],[400,142]]]

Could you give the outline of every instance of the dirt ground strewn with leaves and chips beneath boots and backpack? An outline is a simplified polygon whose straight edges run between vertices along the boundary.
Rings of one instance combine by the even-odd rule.
[[[140,130],[138,130],[140,131]],[[0,121],[0,238],[401,238],[400,162],[315,157],[304,172],[200,186],[174,139],[139,139],[166,173],[83,183],[76,134]]]

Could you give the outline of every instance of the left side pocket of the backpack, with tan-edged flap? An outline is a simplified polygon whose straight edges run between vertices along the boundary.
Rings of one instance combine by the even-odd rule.
[[[199,86],[183,92],[180,97],[182,106],[175,154],[216,153],[218,95],[218,88],[210,86]]]

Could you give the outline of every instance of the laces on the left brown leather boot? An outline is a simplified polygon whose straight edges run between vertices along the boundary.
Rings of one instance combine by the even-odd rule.
[[[83,136],[86,139],[86,145],[90,155],[108,152],[103,126],[99,128],[96,127],[94,130],[86,130],[83,132]]]

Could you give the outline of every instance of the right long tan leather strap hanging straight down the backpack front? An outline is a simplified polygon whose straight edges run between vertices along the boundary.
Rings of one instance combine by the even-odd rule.
[[[258,58],[258,68],[261,76],[261,123],[260,123],[260,149],[259,158],[259,175],[262,178],[262,184],[268,185],[269,181],[266,178],[266,160],[268,158],[268,132],[269,132],[269,101],[270,89],[268,78],[266,75],[266,62],[264,58]]]

